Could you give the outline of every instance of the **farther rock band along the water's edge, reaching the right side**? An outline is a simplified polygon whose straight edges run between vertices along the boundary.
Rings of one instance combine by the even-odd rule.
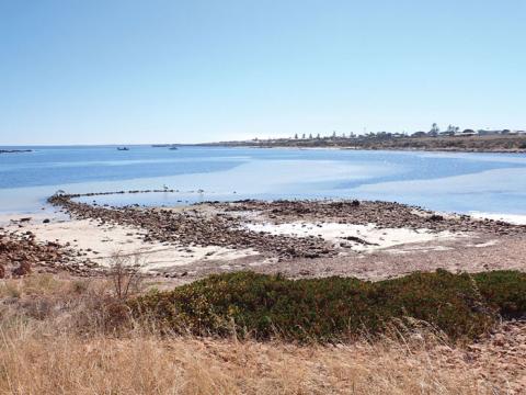
[[[380,228],[426,228],[434,232],[483,233],[498,236],[526,234],[526,225],[493,219],[481,221],[460,214],[442,215],[396,202],[247,200],[231,203],[214,202],[213,206],[226,213],[258,212],[260,217],[276,224],[297,221],[355,225],[374,223]]]

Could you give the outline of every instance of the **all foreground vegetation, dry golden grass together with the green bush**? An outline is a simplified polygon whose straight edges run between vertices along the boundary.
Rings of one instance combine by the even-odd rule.
[[[521,273],[367,283],[242,272],[155,286],[126,270],[4,280],[0,393],[494,394],[515,385],[516,372],[495,373],[498,354],[473,369],[455,339],[489,330],[500,313],[524,313]],[[405,313],[434,325],[408,325]],[[399,325],[380,325],[388,314]]]

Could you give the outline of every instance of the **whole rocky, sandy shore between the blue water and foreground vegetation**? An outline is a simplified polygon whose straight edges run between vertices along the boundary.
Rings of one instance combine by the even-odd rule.
[[[148,275],[188,282],[254,270],[290,278],[380,280],[413,271],[526,269],[525,226],[385,202],[203,203],[101,207],[60,199],[56,212],[4,215],[2,233],[56,244],[68,270],[94,275],[115,255]]]

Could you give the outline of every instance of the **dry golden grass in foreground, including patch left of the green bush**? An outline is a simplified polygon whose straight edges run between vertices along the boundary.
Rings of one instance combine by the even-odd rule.
[[[0,285],[0,393],[506,393],[437,337],[300,347],[161,337],[137,326],[115,332],[100,311],[112,292],[111,282],[37,275]]]

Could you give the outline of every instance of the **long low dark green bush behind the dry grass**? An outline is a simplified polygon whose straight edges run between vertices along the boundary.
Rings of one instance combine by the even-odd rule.
[[[526,312],[524,273],[453,274],[444,270],[368,282],[351,278],[287,280],[237,272],[211,275],[170,292],[129,302],[174,332],[298,341],[339,341],[364,331],[378,335],[393,321],[423,320],[454,339],[473,338],[499,314]]]

